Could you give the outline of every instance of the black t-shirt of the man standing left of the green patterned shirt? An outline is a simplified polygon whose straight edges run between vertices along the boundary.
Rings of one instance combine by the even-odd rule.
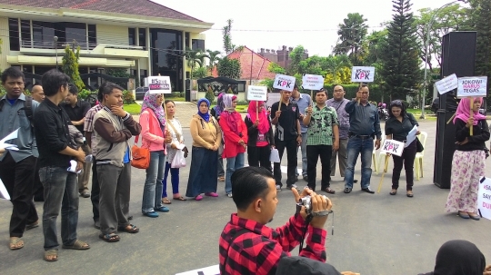
[[[271,120],[275,119],[278,104],[273,103],[271,106]],[[296,139],[297,130],[296,121],[300,119],[300,112],[296,103],[281,103],[281,115],[276,123],[275,138],[278,141],[290,141]]]

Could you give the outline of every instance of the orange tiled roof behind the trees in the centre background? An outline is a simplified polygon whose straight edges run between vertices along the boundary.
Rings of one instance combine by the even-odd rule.
[[[276,74],[267,71],[267,67],[271,63],[271,60],[256,54],[253,50],[248,47],[240,51],[235,51],[234,53],[228,54],[230,59],[238,59],[240,61],[240,66],[242,74],[240,79],[242,80],[264,80],[266,78],[275,79]],[[252,77],[251,77],[252,69]],[[212,72],[213,76],[217,76],[216,67]]]

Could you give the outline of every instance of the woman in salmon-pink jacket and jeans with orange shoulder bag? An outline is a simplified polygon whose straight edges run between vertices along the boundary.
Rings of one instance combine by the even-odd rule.
[[[142,213],[150,218],[158,217],[157,211],[169,211],[161,201],[165,169],[165,143],[172,142],[170,135],[166,134],[165,131],[163,101],[164,96],[162,94],[146,92],[140,113],[142,147],[150,150],[150,165],[146,169]]]

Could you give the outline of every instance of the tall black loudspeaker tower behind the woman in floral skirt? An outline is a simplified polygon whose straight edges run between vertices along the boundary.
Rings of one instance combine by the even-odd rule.
[[[442,42],[441,77],[474,76],[476,63],[476,32],[445,34]],[[452,121],[456,113],[456,90],[440,94],[440,108],[436,121],[436,150],[433,182],[442,189],[450,188],[452,159],[456,150],[456,127]]]

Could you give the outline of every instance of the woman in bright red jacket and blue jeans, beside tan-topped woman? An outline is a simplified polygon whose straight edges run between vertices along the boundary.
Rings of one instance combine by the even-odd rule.
[[[224,133],[224,153],[226,159],[225,193],[232,198],[232,174],[244,167],[244,152],[247,147],[247,126],[242,121],[240,113],[235,111],[237,97],[234,94],[224,94],[225,109],[220,115],[220,127]]]

